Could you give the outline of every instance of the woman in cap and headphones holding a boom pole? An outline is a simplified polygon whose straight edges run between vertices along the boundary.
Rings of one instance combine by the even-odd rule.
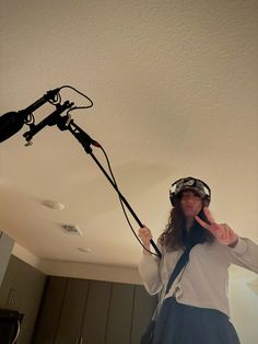
[[[195,177],[173,184],[173,208],[157,245],[162,259],[150,253],[151,230],[139,230],[144,250],[139,272],[149,294],[160,293],[154,344],[238,344],[230,322],[227,299],[231,264],[258,273],[258,245],[219,225],[208,206],[209,186]],[[166,294],[166,285],[186,248],[189,261]]]

